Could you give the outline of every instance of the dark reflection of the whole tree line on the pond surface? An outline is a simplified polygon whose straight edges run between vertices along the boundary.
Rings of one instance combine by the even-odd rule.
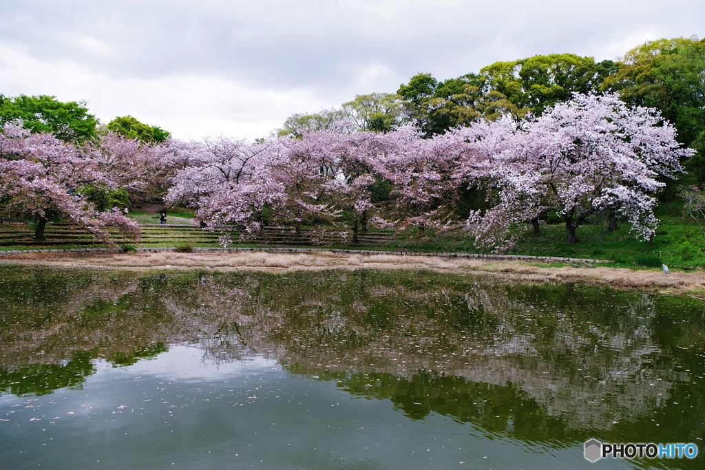
[[[410,416],[546,439],[646,419],[695,373],[662,351],[684,332],[658,336],[650,297],[608,289],[384,271],[27,271],[12,270],[0,297],[9,371],[80,350],[130,364],[188,343],[204,361],[263,354]]]

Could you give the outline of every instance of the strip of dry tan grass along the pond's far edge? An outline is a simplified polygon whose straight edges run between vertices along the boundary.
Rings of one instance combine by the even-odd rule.
[[[545,266],[539,260],[477,259],[413,254],[317,252],[90,252],[25,253],[0,258],[1,266],[48,266],[133,271],[209,269],[213,271],[321,271],[326,269],[410,269],[441,273],[488,275],[530,283],[584,283],[627,290],[646,290],[705,299],[705,274],[631,270],[586,264]],[[543,266],[542,266],[543,265]]]

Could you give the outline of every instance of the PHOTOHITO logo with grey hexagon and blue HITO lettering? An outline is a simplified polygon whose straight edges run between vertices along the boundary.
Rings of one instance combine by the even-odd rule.
[[[613,459],[634,459],[646,457],[649,459],[694,459],[698,454],[698,446],[688,444],[605,444],[599,440],[590,439],[585,443],[585,458],[597,462],[603,457]]]

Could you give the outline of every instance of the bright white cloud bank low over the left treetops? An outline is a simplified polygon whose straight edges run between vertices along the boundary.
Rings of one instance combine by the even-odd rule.
[[[332,106],[305,89],[248,87],[217,76],[113,78],[71,61],[48,62],[0,44],[4,94],[51,94],[64,101],[90,98],[104,123],[130,114],[176,137],[263,137],[297,109]]]

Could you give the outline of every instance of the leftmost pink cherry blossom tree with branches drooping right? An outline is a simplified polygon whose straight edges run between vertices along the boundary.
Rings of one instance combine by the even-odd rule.
[[[96,211],[78,191],[83,185],[116,187],[90,147],[66,144],[51,134],[6,124],[0,132],[0,202],[35,214],[35,240],[44,238],[47,217],[62,216],[109,242],[108,227],[137,239],[139,228],[117,210]]]

